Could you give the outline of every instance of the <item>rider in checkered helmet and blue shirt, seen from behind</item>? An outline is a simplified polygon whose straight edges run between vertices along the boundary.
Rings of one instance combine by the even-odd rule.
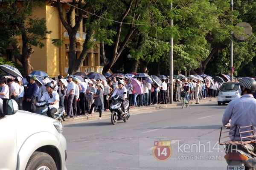
[[[245,77],[241,79],[239,83],[235,85],[240,85],[239,93],[241,98],[232,100],[224,112],[222,123],[227,125],[248,126],[253,125],[253,130],[256,132],[256,99],[253,97],[253,93],[256,90],[256,81],[250,77]],[[230,120],[231,119],[231,120]],[[248,129],[247,129],[248,128]],[[242,131],[251,130],[250,127],[243,128]],[[235,130],[235,127],[231,127],[231,130]],[[233,135],[230,132],[229,135]],[[250,136],[251,133],[241,133],[241,137]],[[233,137],[231,137],[233,139]],[[235,141],[240,141],[239,130],[236,130]],[[243,141],[254,140],[253,137],[244,138]]]

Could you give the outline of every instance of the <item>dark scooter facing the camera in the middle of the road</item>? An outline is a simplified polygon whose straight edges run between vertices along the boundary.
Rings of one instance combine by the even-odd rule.
[[[124,93],[126,94],[126,93]],[[111,105],[110,105],[110,111],[111,111],[111,123],[113,125],[116,125],[116,122],[118,120],[123,120],[124,122],[128,122],[128,118],[130,117],[129,113],[129,101],[125,105],[125,112],[126,116],[124,116],[124,113],[122,112],[122,101],[124,100],[121,96],[115,95],[111,97]]]

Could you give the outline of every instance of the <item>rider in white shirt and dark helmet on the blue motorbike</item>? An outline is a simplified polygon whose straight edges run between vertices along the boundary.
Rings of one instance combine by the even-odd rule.
[[[43,96],[41,97],[40,101],[47,101],[50,103],[47,111],[47,116],[54,119],[54,113],[58,111],[59,107],[59,95],[56,91],[53,91],[53,84],[48,82],[46,85],[46,92],[44,92]]]

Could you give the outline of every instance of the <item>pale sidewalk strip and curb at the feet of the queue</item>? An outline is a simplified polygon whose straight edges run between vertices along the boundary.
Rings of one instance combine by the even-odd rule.
[[[216,98],[201,99],[200,104],[201,103],[206,103],[206,102],[213,102],[213,101],[216,101],[216,105],[217,105],[217,97]],[[190,101],[189,105],[194,105],[194,104],[195,104],[195,100],[192,100],[192,101]],[[150,105],[150,106],[141,106],[141,107],[130,108],[130,114],[134,114],[134,113],[138,113],[138,112],[145,112],[145,111],[154,111],[154,110],[163,109],[163,108],[172,108],[172,107],[176,107],[176,106],[181,107],[181,102],[173,102],[173,104],[158,104],[158,105]],[[197,105],[197,106],[200,106],[200,105]],[[103,117],[109,117],[110,118],[111,117],[111,111],[102,112],[102,118]],[[95,112],[93,116],[81,115],[79,117],[73,117],[73,118],[70,118],[70,119],[65,119],[65,121],[63,123],[67,124],[67,123],[73,123],[73,122],[82,122],[82,121],[93,120],[93,119],[98,119],[98,118],[99,118],[99,112]]]

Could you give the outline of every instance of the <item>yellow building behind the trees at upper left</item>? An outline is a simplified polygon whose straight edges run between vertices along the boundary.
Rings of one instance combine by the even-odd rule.
[[[70,6],[67,3],[62,3],[62,11],[65,15]],[[47,39],[42,40],[44,43],[43,48],[34,47],[34,54],[30,58],[30,62],[34,70],[45,71],[49,77],[57,77],[58,74],[67,76],[68,71],[68,51],[69,51],[69,37],[67,30],[65,30],[64,26],[61,23],[61,20],[58,16],[57,4],[55,1],[46,1],[46,5],[44,8],[38,7],[33,17],[38,18],[46,18],[46,26],[48,31],[52,31],[51,34],[47,34]],[[75,25],[75,10],[73,11],[72,20],[73,25]],[[82,23],[80,24],[80,28],[76,33],[76,55],[80,56],[81,51],[83,49],[82,45],[84,43],[86,33],[86,28],[84,24],[86,22],[86,16],[84,16]],[[52,44],[53,39],[61,38],[64,40],[64,45],[60,48],[55,47]],[[22,42],[19,38],[18,44],[20,44],[20,48],[22,49]],[[103,66],[100,66],[100,47],[99,43],[96,43],[96,48],[91,48],[87,51],[87,57],[84,60],[82,66],[78,71],[83,72],[99,72],[102,73]]]

